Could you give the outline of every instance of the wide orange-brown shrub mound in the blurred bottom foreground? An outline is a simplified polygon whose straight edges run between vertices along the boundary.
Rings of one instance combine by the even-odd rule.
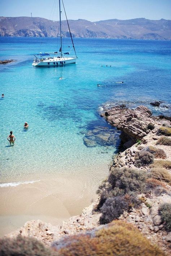
[[[121,221],[113,221],[101,229],[86,234],[64,237],[52,246],[59,256],[165,255],[133,225]]]

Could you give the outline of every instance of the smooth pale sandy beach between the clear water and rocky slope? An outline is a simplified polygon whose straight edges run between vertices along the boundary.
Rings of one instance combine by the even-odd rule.
[[[103,171],[107,175],[108,170]],[[61,174],[32,184],[0,187],[0,237],[29,220],[58,225],[81,214],[97,198],[96,190],[102,178],[93,177],[93,173],[89,177],[72,178]]]

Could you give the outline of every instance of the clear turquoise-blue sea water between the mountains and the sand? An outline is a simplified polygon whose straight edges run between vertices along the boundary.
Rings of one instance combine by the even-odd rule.
[[[98,114],[102,104],[144,104],[154,114],[170,112],[170,41],[75,38],[76,65],[32,67],[35,53],[58,50],[56,41],[0,38],[0,59],[17,60],[0,66],[0,94],[5,95],[0,100],[2,182],[85,172],[96,183],[107,173],[119,143],[115,129],[113,145],[84,143],[96,126],[112,129]],[[149,105],[154,100],[163,101],[161,107]],[[16,136],[14,147],[6,140],[10,130]]]

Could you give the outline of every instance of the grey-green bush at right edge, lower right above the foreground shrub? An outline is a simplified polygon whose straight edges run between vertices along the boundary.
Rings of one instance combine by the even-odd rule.
[[[165,229],[171,231],[171,204],[162,204],[159,208],[159,214]]]

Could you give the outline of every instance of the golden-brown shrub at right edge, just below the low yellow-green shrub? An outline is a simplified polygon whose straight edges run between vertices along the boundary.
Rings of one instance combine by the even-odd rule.
[[[165,168],[152,168],[150,175],[154,179],[167,182],[171,185],[171,174]]]

